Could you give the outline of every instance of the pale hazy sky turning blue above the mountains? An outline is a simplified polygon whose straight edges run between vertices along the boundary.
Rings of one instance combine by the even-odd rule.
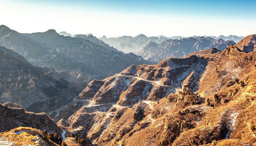
[[[96,37],[256,34],[256,0],[0,0],[0,25]]]

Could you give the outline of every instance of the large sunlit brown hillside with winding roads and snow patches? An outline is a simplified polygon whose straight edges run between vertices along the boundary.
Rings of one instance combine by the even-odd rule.
[[[58,124],[98,146],[255,145],[255,58],[230,45],[132,65],[91,81]]]

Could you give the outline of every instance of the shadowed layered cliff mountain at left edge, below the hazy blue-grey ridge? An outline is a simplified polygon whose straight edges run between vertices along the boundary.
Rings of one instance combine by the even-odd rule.
[[[24,57],[0,46],[0,102],[28,111],[50,112],[74,98],[86,82],[54,67],[33,66]]]

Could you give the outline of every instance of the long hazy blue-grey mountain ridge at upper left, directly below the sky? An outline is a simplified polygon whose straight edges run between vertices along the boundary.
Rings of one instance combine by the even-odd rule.
[[[88,82],[112,76],[132,64],[155,64],[133,53],[117,51],[105,43],[91,42],[89,38],[65,37],[55,30],[20,34],[0,26],[0,45],[14,50],[33,65],[54,66],[74,76],[80,74]]]

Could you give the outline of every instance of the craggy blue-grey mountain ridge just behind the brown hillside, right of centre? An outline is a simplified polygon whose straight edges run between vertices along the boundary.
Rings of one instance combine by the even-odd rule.
[[[236,44],[234,41],[224,41],[223,39],[212,39],[210,37],[168,39],[159,44],[148,43],[136,54],[144,58],[151,58],[154,61],[161,61],[168,57],[185,57],[193,51],[202,51],[212,47],[224,50],[232,43]]]

